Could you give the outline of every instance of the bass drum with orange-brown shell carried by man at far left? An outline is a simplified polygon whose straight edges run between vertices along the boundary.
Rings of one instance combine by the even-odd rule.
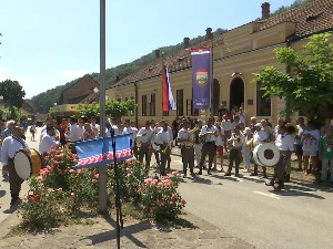
[[[14,168],[18,176],[26,180],[30,176],[38,176],[42,168],[42,158],[36,149],[20,149],[14,156]]]

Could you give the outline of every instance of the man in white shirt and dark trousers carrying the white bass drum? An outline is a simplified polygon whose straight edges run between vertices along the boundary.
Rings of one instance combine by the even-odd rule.
[[[290,159],[291,154],[294,151],[294,138],[285,133],[285,125],[280,126],[275,145],[280,151],[280,160],[274,167],[273,178],[270,181],[266,181],[265,185],[274,187],[274,181],[278,178],[279,185],[274,189],[281,190],[284,188],[285,165],[287,164],[287,160]]]

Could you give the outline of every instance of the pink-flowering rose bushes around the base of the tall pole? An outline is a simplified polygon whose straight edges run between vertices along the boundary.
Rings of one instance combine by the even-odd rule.
[[[47,166],[38,177],[29,179],[30,191],[20,206],[23,222],[31,227],[49,227],[59,224],[75,211],[95,210],[98,206],[99,174],[95,167],[73,169],[77,155],[68,147],[51,149],[46,157]],[[137,159],[118,163],[122,201],[131,201],[148,218],[172,219],[184,207],[176,188],[178,173],[171,177],[148,177],[144,165]],[[114,166],[108,165],[108,196],[114,198]]]

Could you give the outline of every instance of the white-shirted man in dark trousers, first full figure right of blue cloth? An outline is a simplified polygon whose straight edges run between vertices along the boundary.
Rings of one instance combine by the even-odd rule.
[[[154,131],[150,127],[151,122],[147,121],[145,126],[139,129],[137,135],[138,147],[139,147],[139,160],[143,163],[143,157],[145,157],[145,169],[150,168],[151,160],[151,138]]]

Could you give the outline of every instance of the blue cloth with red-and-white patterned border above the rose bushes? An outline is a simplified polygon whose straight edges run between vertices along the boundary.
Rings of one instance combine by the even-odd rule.
[[[130,146],[130,134],[114,136],[115,158],[124,160],[132,157]],[[75,148],[79,157],[74,169],[88,168],[114,162],[111,137],[99,137],[95,139],[77,142]]]

